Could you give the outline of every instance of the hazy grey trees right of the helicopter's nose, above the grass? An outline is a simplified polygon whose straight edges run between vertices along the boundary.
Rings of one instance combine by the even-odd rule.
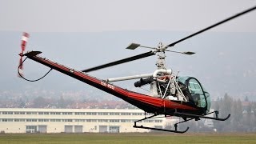
[[[256,102],[250,102],[246,97],[244,101],[234,99],[228,94],[213,102],[214,110],[220,111],[220,116],[231,114],[225,122],[215,122],[214,128],[218,131],[256,131]]]

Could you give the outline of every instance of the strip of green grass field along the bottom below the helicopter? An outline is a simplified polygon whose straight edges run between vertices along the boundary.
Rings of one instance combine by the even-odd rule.
[[[256,133],[234,134],[0,134],[1,144],[16,143],[256,143]]]

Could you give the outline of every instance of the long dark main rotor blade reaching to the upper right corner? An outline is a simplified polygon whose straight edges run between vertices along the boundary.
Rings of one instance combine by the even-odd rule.
[[[170,46],[174,46],[174,45],[176,45],[176,44],[179,43],[179,42],[185,41],[185,40],[188,39],[188,38],[194,37],[194,36],[197,35],[197,34],[201,34],[202,32],[204,32],[204,31],[206,31],[206,30],[210,30],[210,29],[214,28],[215,26],[219,26],[219,25],[221,25],[221,24],[224,23],[224,22],[228,22],[228,21],[230,21],[231,19],[238,18],[238,17],[241,16],[242,14],[249,13],[250,11],[255,10],[255,9],[256,9],[256,6],[250,8],[250,9],[248,9],[248,10],[244,10],[244,11],[242,11],[241,13],[238,13],[238,14],[235,14],[234,16],[231,16],[230,18],[226,18],[226,19],[222,20],[221,22],[215,23],[215,24],[212,25],[212,26],[208,26],[208,27],[206,27],[206,28],[203,29],[203,30],[200,30],[200,31],[198,31],[198,32],[196,32],[196,33],[194,33],[194,34],[190,34],[189,36],[187,36],[187,37],[185,37],[185,38],[182,38],[182,39],[180,39],[180,40],[178,40],[178,41],[176,41],[176,42],[173,42],[173,43],[171,43],[170,45],[167,45],[166,48],[168,48],[168,47],[170,47]]]

